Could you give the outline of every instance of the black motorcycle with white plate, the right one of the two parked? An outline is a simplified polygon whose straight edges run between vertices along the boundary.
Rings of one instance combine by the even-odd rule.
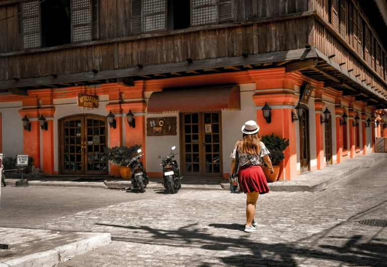
[[[181,189],[181,179],[179,165],[176,160],[172,160],[177,154],[172,151],[176,149],[176,146],[172,147],[171,154],[166,156],[165,158],[162,156],[158,156],[158,158],[163,158],[163,161],[160,165],[163,166],[163,178],[164,183],[163,186],[166,190],[170,190],[172,194],[175,194],[176,190]]]

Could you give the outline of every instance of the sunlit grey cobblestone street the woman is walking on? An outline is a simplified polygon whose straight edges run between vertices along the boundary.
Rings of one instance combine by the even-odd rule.
[[[179,192],[80,212],[47,229],[110,232],[114,241],[60,266],[386,266],[387,159],[318,193],[260,196],[244,233],[243,194]],[[146,194],[146,193],[145,193]],[[382,225],[383,226],[383,225]]]

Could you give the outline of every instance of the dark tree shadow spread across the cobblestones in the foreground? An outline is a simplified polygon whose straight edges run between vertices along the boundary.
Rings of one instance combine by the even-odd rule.
[[[122,226],[111,224],[98,224],[102,226],[121,227],[141,233],[130,238],[113,237],[117,241],[128,241],[143,244],[166,245],[172,247],[199,247],[204,250],[229,251],[230,256],[218,256],[225,264],[231,266],[244,265],[276,265],[297,266],[298,260],[317,259],[332,260],[352,266],[381,266],[387,262],[385,251],[387,246],[382,243],[361,241],[361,235],[347,238],[343,246],[320,245],[315,247],[305,246],[300,243],[269,244],[251,239],[251,234],[234,238],[232,233],[217,236],[208,232],[208,229],[194,228],[191,224],[176,230],[154,229],[149,226]],[[221,227],[229,230],[239,230],[238,224],[222,225],[210,224],[212,227]],[[237,229],[236,229],[237,228]],[[259,240],[259,235],[257,235]],[[303,258],[303,259],[299,259]],[[299,263],[299,262],[298,262]]]

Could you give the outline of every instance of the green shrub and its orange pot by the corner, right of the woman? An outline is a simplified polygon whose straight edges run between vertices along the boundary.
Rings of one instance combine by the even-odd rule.
[[[289,139],[282,139],[274,136],[274,133],[272,133],[271,135],[262,136],[261,141],[270,152],[269,157],[274,169],[274,173],[270,173],[269,167],[264,166],[262,168],[263,172],[265,173],[267,182],[275,182],[278,179],[279,163],[285,158],[283,151],[289,146]]]

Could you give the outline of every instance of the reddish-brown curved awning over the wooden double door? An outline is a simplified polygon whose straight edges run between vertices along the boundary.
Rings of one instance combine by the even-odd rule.
[[[239,85],[171,88],[150,95],[147,113],[241,110]]]

